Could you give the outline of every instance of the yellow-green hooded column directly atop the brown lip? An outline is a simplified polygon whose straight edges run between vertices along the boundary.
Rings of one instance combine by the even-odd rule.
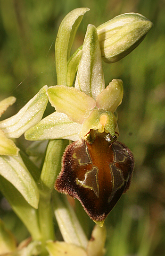
[[[102,124],[101,122],[101,116],[103,115],[105,117],[104,124]],[[112,136],[115,136],[116,128],[117,124],[115,115],[113,115],[110,111],[105,111],[103,109],[94,109],[82,125],[82,138],[86,139],[86,136],[91,129],[99,130],[99,132],[104,132],[104,129],[106,129],[107,132],[109,132]]]

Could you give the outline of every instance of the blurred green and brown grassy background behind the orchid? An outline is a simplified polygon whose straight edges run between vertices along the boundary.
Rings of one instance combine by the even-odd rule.
[[[165,0],[0,0],[0,100],[17,98],[3,118],[15,114],[45,84],[56,84],[58,26],[78,7],[91,10],[78,29],[73,52],[82,44],[89,23],[99,26],[126,12],[138,12],[154,23],[132,53],[103,64],[106,85],[123,79],[119,140],[135,159],[132,185],[106,220],[106,256],[164,256]],[[25,227],[4,199],[0,204],[0,217],[21,241],[28,236]],[[93,223],[85,214],[83,226],[90,234]]]

